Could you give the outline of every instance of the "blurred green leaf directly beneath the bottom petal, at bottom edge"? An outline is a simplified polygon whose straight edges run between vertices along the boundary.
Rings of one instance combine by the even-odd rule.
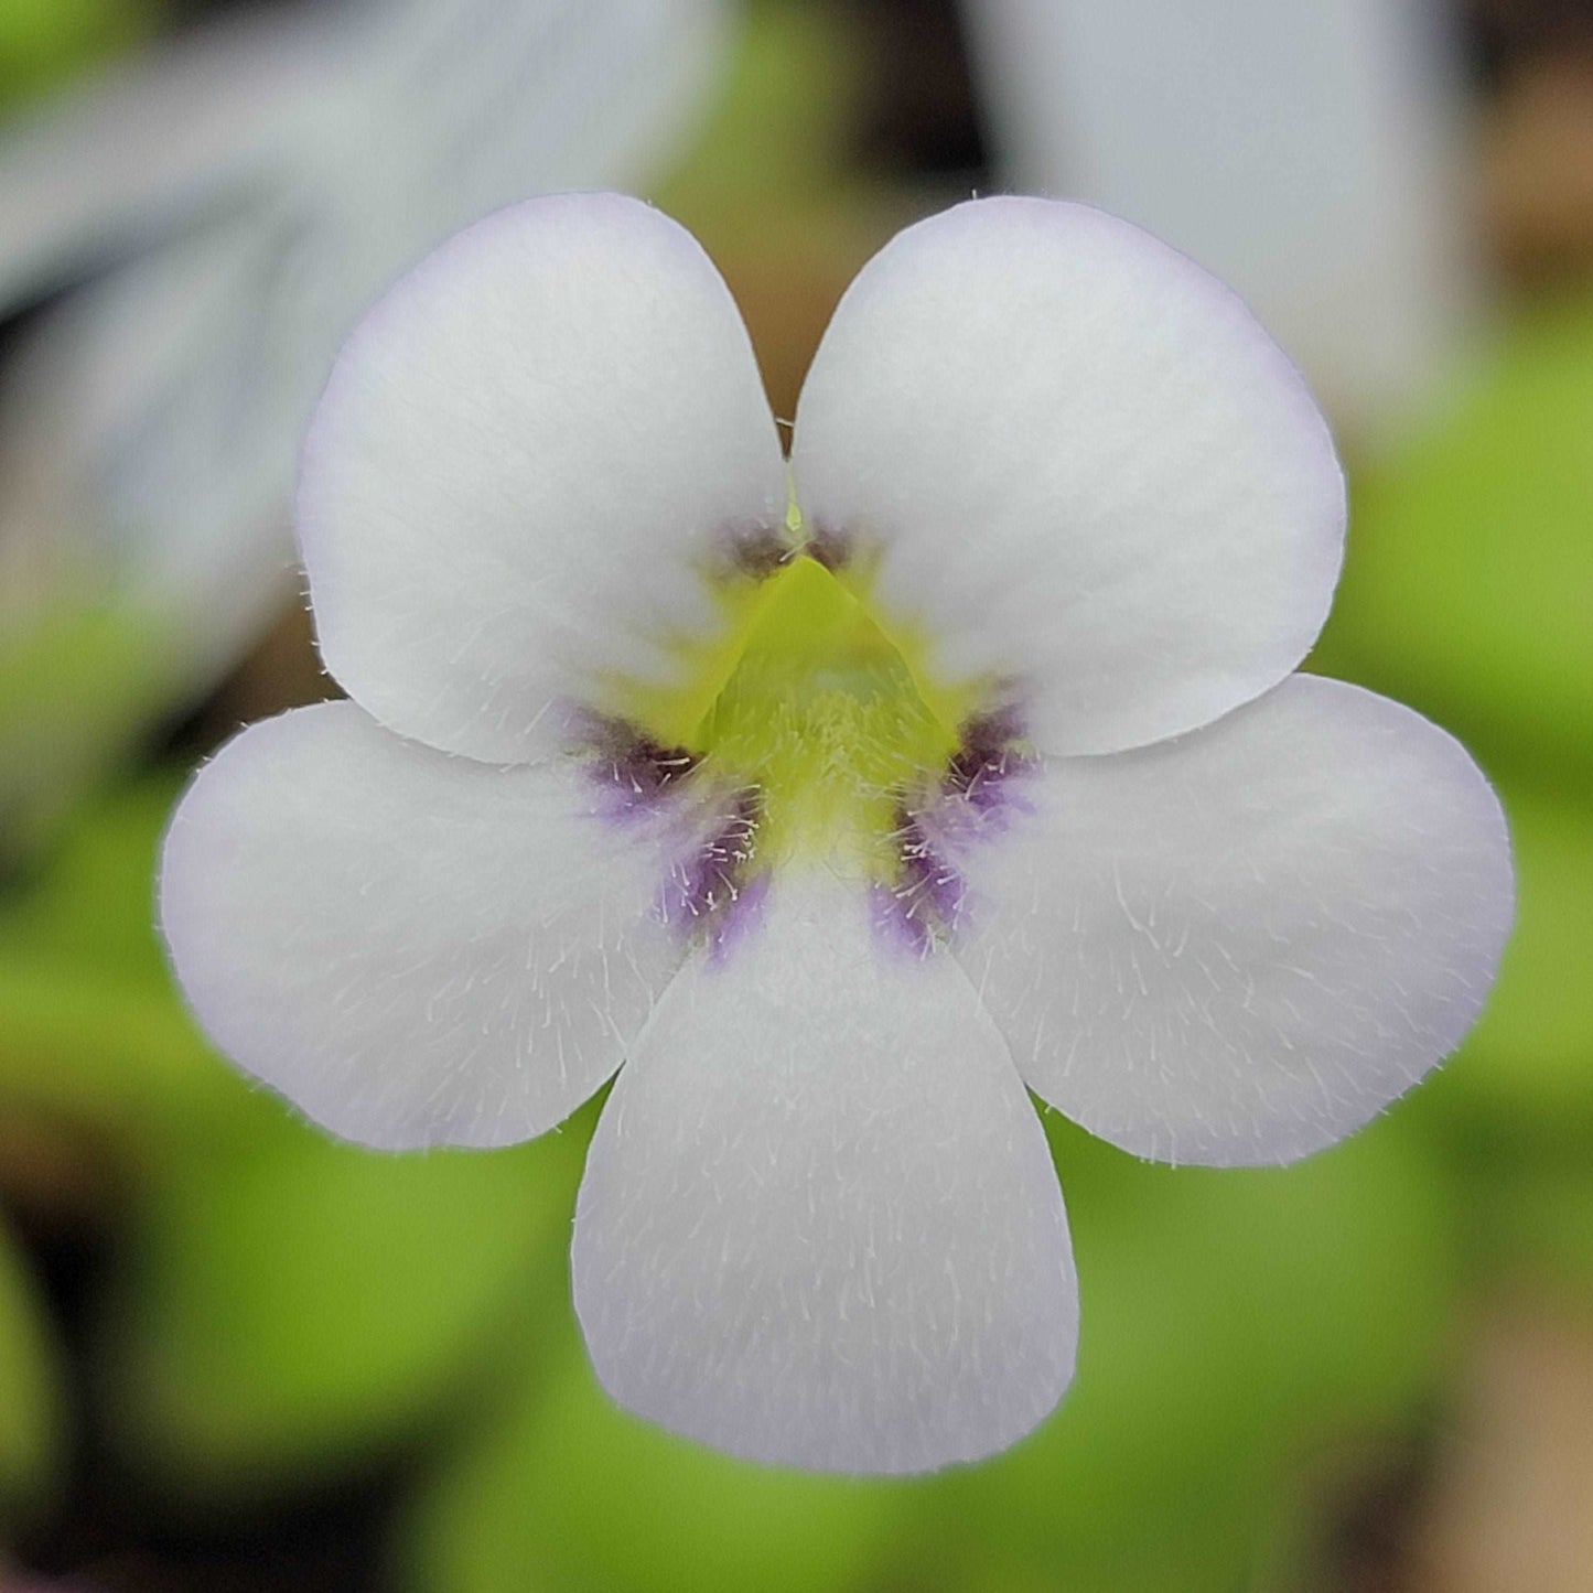
[[[881,1585],[913,1488],[733,1461],[621,1411],[599,1389],[569,1305],[559,1356],[421,1501],[414,1593],[827,1593]]]

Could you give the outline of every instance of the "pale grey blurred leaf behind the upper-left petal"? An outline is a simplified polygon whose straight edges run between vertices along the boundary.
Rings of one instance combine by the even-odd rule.
[[[530,193],[645,186],[725,0],[349,0],[190,38],[0,132],[0,626],[159,618],[199,687],[293,581],[299,433],[408,263]]]

